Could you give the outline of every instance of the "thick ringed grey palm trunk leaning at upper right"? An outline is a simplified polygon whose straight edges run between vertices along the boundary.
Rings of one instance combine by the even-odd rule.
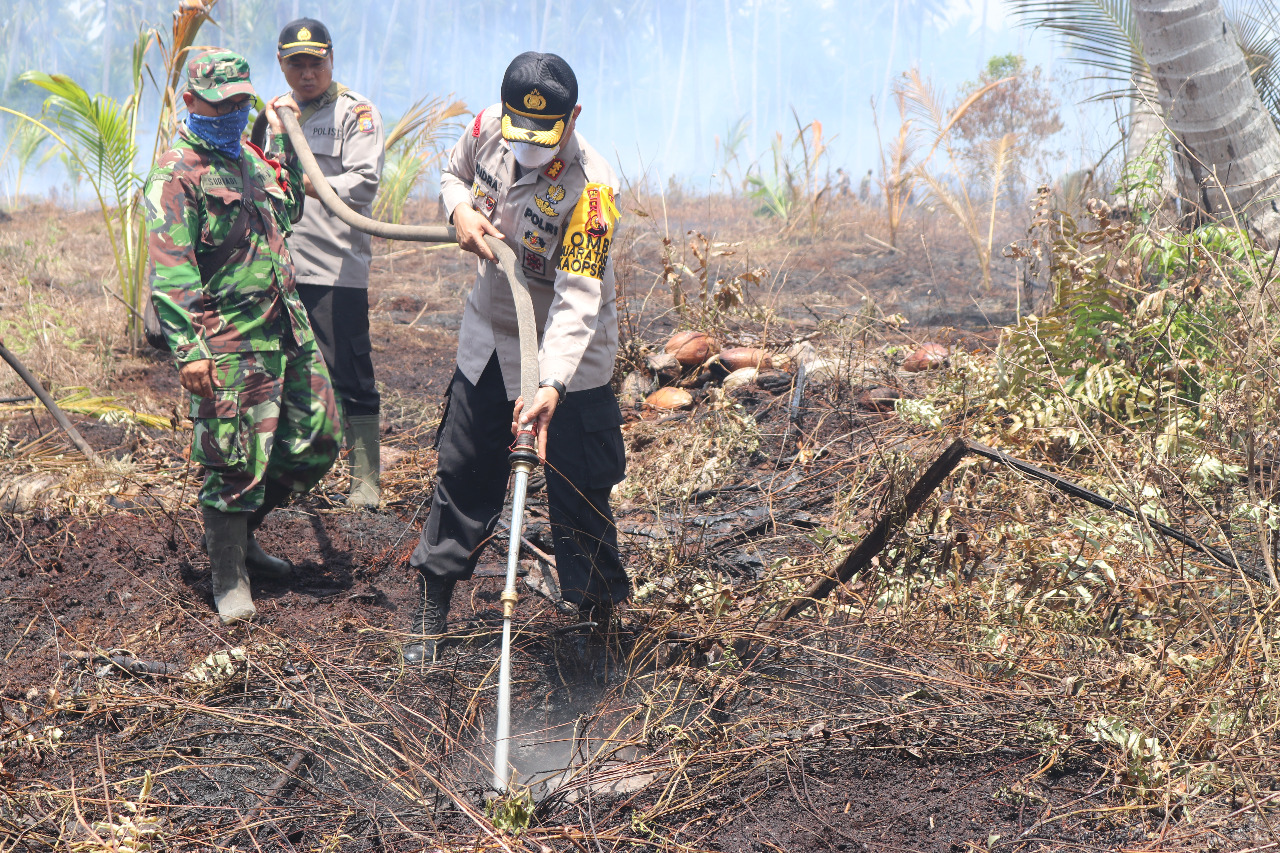
[[[1188,178],[1183,199],[1203,215],[1242,216],[1268,243],[1280,240],[1280,131],[1249,79],[1220,0],[1133,0],[1160,105]]]

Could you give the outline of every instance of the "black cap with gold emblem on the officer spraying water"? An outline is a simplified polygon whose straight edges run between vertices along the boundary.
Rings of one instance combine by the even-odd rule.
[[[502,76],[502,138],[544,149],[559,145],[577,105],[577,77],[556,54],[527,51]]]

